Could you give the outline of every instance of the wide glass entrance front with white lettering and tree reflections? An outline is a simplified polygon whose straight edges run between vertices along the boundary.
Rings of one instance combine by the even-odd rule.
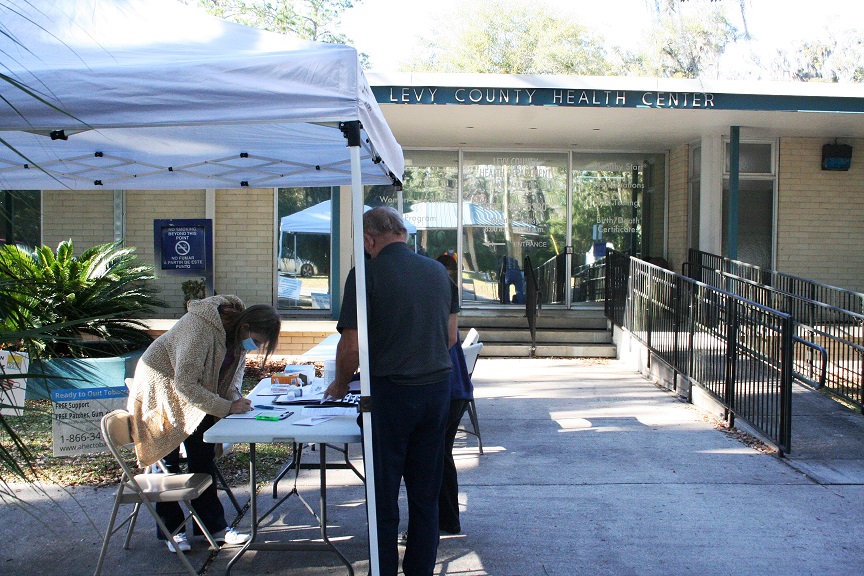
[[[606,249],[664,253],[663,154],[412,150],[405,159],[403,213],[417,251],[448,268],[465,307],[524,305],[526,257],[541,303],[569,306],[603,298]]]

